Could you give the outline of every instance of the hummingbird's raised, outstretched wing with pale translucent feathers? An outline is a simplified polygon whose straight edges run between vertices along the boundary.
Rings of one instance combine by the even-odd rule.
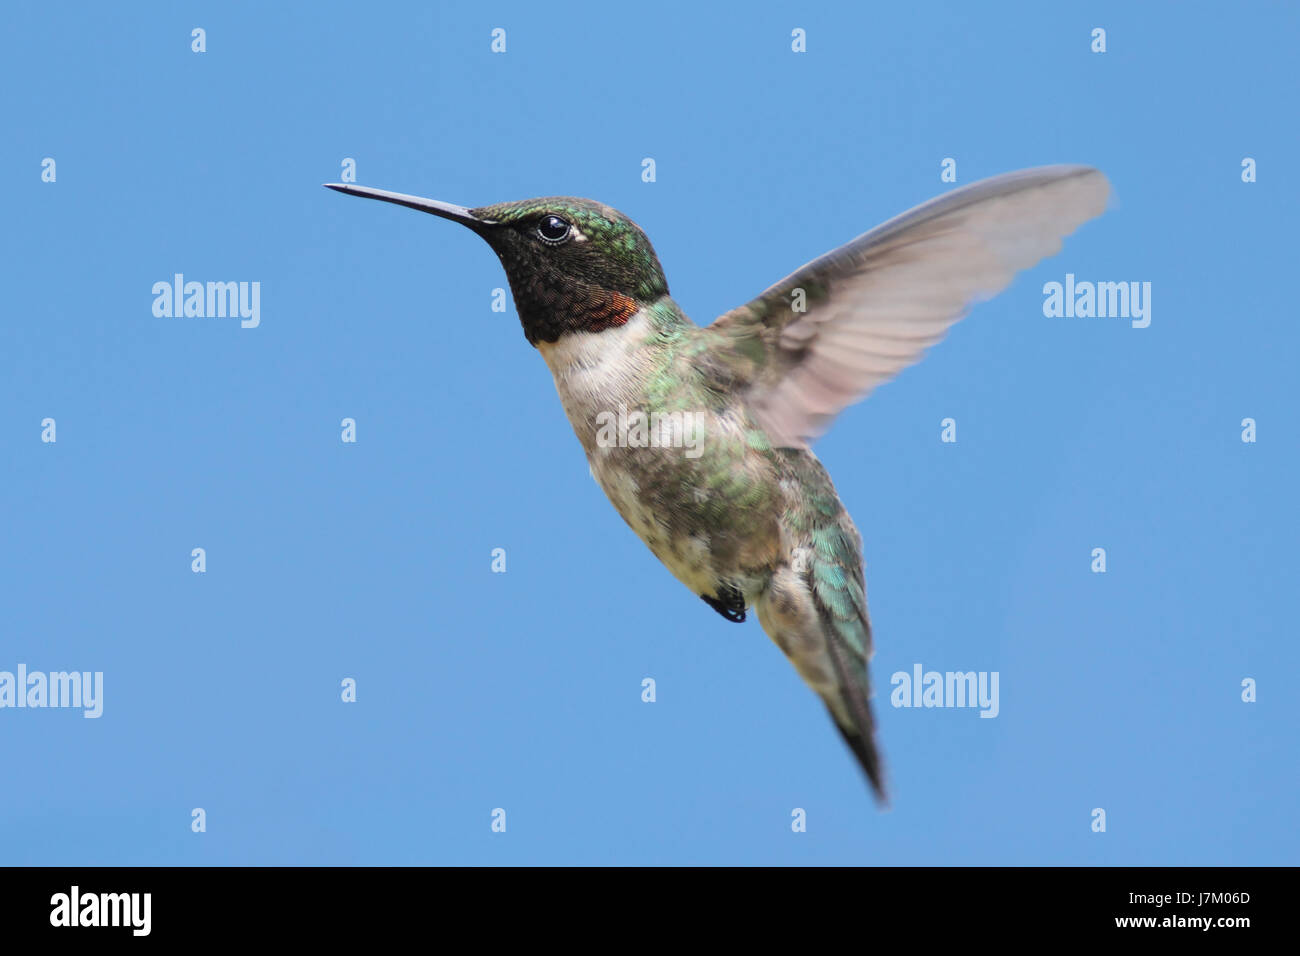
[[[846,406],[920,359],[975,302],[1106,207],[1092,166],[971,183],[814,259],[710,328],[780,446],[803,447]],[[800,311],[800,308],[805,311]]]

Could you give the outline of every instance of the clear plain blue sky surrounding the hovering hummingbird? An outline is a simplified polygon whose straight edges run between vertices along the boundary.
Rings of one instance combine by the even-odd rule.
[[[1134,7],[8,10],[0,670],[105,702],[0,710],[0,862],[1300,861],[1297,14]],[[949,156],[1115,202],[818,445],[866,540],[880,813],[758,623],[592,483],[491,251],[320,183],[602,199],[707,323]],[[156,319],[176,272],[260,281],[261,326]],[[1045,319],[1066,272],[1152,282],[1150,328]],[[998,671],[1001,714],[890,708],[918,662]]]

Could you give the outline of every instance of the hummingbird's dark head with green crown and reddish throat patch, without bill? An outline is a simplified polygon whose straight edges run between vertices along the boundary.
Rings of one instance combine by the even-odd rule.
[[[533,345],[623,325],[668,294],[645,233],[607,206],[551,196],[469,212],[506,268]]]

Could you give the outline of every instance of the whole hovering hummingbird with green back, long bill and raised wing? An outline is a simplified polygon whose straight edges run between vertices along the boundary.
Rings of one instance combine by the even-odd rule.
[[[1052,165],[954,189],[707,326],[673,302],[641,228],[603,203],[547,196],[465,208],[325,185],[459,222],[488,242],[597,484],[705,604],[729,622],[758,614],[885,804],[862,536],[810,445],[975,303],[1101,215],[1106,177]],[[615,412],[642,425],[658,416],[660,440],[634,428],[612,437]],[[699,436],[693,453],[688,421]]]

